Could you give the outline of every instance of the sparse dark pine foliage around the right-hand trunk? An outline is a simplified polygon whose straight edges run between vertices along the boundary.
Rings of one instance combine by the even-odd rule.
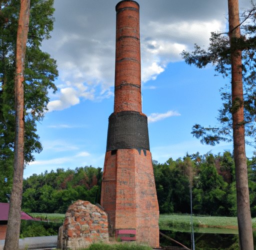
[[[253,3],[252,3],[253,4]],[[242,50],[242,79],[243,79],[243,107],[246,143],[255,146],[256,140],[256,7],[252,5],[250,10],[241,14],[241,37],[235,40],[236,47]],[[231,75],[230,53],[234,48],[230,47],[228,33],[211,32],[209,45],[206,49],[199,45],[194,45],[191,52],[182,51],[181,55],[189,65],[193,64],[198,68],[203,68],[207,64],[212,64],[215,71],[223,77]],[[223,101],[217,117],[218,124],[214,127],[204,127],[195,124],[192,127],[192,134],[200,138],[201,143],[215,145],[220,141],[232,141],[232,113],[241,105],[239,100],[231,99],[231,84],[227,83],[220,88],[221,99]]]

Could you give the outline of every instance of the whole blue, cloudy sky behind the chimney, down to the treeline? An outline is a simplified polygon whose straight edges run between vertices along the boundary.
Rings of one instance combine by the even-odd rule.
[[[37,132],[43,150],[24,169],[24,177],[45,170],[104,163],[108,116],[113,112],[115,5],[118,0],[55,0],[52,38],[42,50],[57,60],[58,91],[49,93],[49,111]],[[249,7],[249,0],[240,7]],[[148,117],[152,158],[160,163],[183,157],[232,151],[232,144],[200,144],[195,123],[216,125],[219,88],[230,79],[197,69],[180,52],[197,43],[207,47],[210,31],[226,27],[223,0],[140,0],[142,112]],[[246,147],[247,157],[253,148]]]

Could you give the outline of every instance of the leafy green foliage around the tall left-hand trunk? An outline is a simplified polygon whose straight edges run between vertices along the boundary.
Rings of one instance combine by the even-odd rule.
[[[56,91],[53,81],[57,77],[56,61],[41,51],[43,39],[53,29],[53,0],[30,0],[29,30],[27,34],[24,68],[24,162],[34,160],[33,153],[42,146],[36,134],[36,121],[47,110],[49,89]],[[0,201],[10,197],[13,176],[14,72],[20,1],[0,1]]]

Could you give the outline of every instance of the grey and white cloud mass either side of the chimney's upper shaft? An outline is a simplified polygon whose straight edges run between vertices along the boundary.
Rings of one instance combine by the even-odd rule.
[[[113,95],[116,3],[54,1],[54,31],[42,48],[57,60],[62,83],[48,103],[49,111],[78,104],[81,98],[100,101]],[[210,32],[225,27],[222,0],[198,0],[196,4],[188,0],[140,0],[139,4],[144,83],[156,79],[167,63],[181,60],[183,49],[192,49],[194,43],[207,45]]]

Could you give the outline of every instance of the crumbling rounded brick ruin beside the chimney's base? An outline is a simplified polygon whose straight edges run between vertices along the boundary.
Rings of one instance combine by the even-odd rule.
[[[62,240],[62,249],[73,250],[96,241],[108,242],[107,214],[89,201],[77,200],[66,211]]]

